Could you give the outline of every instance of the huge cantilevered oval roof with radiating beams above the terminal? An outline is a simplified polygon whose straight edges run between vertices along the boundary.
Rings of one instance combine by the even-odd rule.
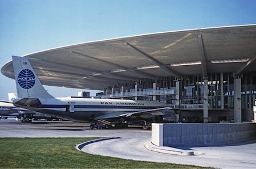
[[[92,41],[26,57],[45,85],[93,90],[141,78],[256,73],[256,24]],[[1,72],[14,79],[12,61]]]

